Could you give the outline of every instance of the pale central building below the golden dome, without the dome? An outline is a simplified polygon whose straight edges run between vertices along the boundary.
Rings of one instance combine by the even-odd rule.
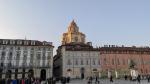
[[[100,76],[100,52],[88,44],[66,44],[54,57],[56,77],[87,78]]]

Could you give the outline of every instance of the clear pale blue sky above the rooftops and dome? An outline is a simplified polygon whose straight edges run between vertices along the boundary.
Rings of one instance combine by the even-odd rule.
[[[149,46],[150,0],[0,0],[0,39],[53,42],[72,20],[94,46]]]

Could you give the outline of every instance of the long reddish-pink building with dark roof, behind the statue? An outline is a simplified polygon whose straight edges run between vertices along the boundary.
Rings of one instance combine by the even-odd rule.
[[[131,61],[134,69],[140,75],[150,74],[150,48],[149,47],[118,47],[105,45],[100,48],[101,68],[103,75],[122,77],[131,75]]]

